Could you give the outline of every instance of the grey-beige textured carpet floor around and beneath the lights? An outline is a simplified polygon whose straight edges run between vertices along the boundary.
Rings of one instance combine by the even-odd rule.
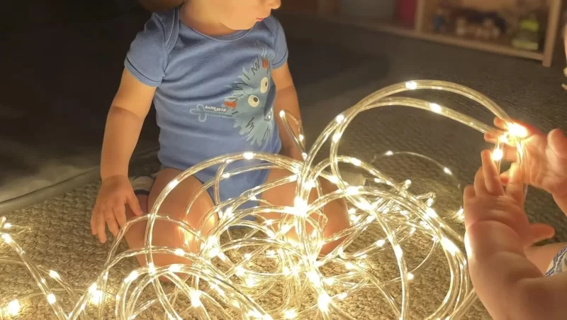
[[[367,94],[410,79],[459,82],[487,94],[510,116],[543,130],[564,128],[566,123],[567,104],[563,101],[567,92],[561,89],[563,60],[557,60],[561,63],[556,67],[546,69],[533,61],[315,23],[307,18],[282,16],[281,21],[288,33],[291,70],[309,141],[336,114]],[[446,104],[487,123],[491,121],[488,111],[451,94],[420,92],[417,96]],[[441,206],[439,212],[447,214],[459,206],[460,192],[455,184],[471,182],[473,172],[480,165],[478,153],[486,147],[480,133],[458,123],[423,111],[391,107],[359,116],[349,127],[339,151],[372,161],[396,179],[411,177],[416,189],[435,189]],[[451,168],[458,181],[440,179],[439,172],[432,170],[434,166],[420,158],[408,155],[381,158],[386,150],[412,151],[433,158]],[[135,170],[150,172],[157,165],[154,159],[145,160]],[[97,275],[109,248],[90,235],[90,211],[97,188],[98,183],[94,182],[7,214],[12,223],[33,228],[33,232],[16,238],[26,252],[74,285],[88,285],[84,281]],[[527,211],[532,220],[557,228],[556,241],[566,240],[567,224],[550,197],[530,190]],[[372,239],[366,235],[361,241]],[[416,263],[425,249],[415,245],[405,250],[410,264]],[[1,254],[4,250],[5,247],[0,247]],[[447,292],[447,267],[438,256],[412,285],[411,319],[423,319],[430,314]],[[385,273],[395,270],[387,259],[375,263]],[[116,273],[126,275],[134,265],[133,261],[123,263]],[[0,274],[9,275],[0,279],[2,298],[11,299],[14,294],[33,289],[33,281],[21,267],[0,265]],[[25,316],[19,319],[50,319],[45,303],[36,303],[36,307],[26,307]],[[376,299],[372,292],[347,300],[343,308],[357,319],[392,318],[383,308],[382,300]],[[467,319],[487,317],[478,304],[466,316]]]

